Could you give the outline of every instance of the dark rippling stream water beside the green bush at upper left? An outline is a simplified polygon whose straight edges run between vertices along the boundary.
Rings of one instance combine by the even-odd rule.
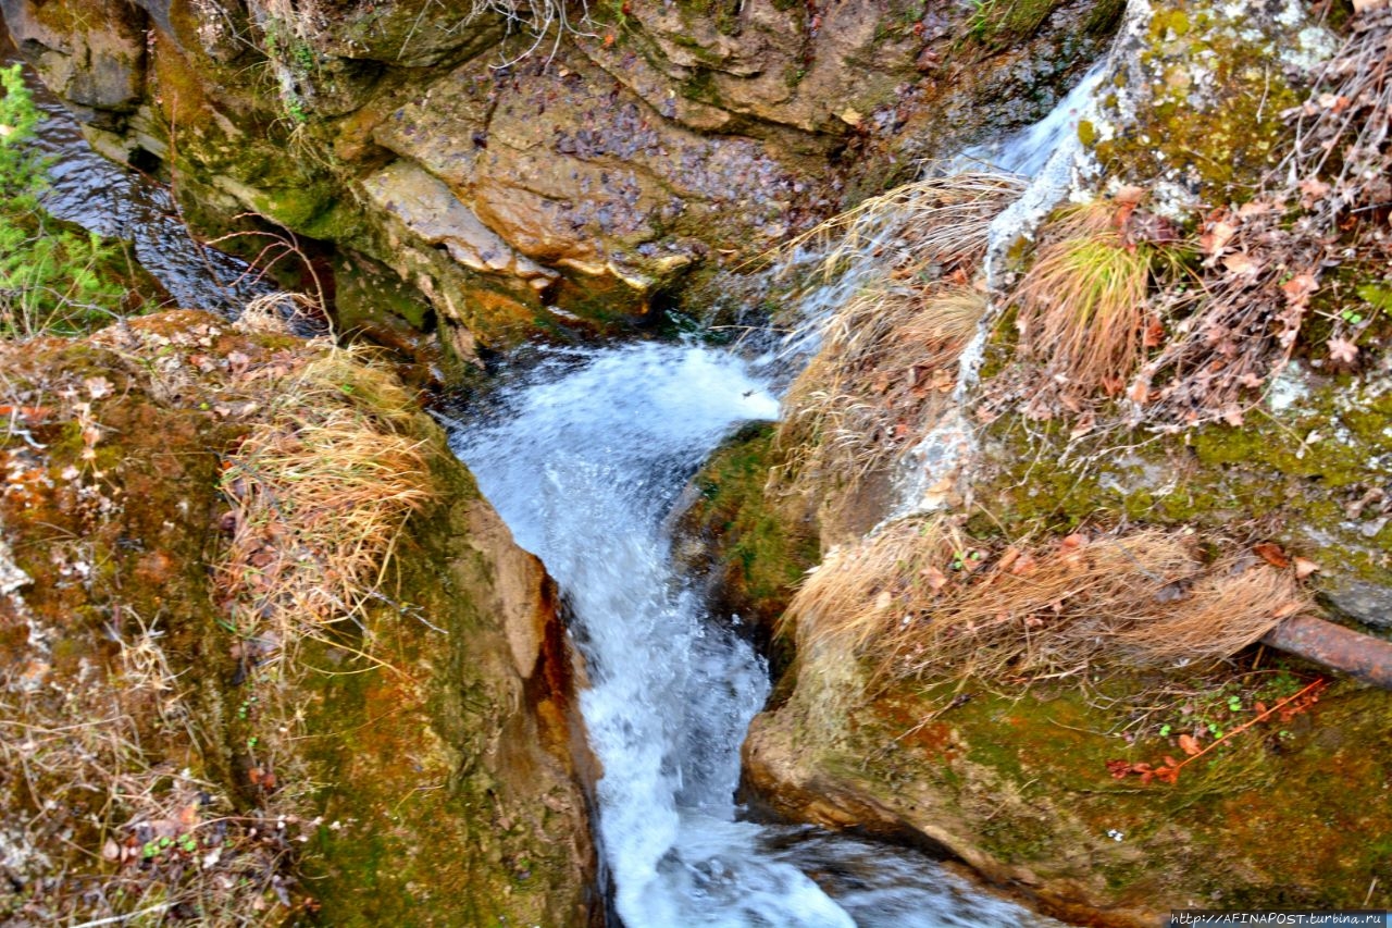
[[[21,61],[0,28],[0,65]],[[207,248],[178,219],[168,190],[92,150],[72,114],[24,67],[25,84],[43,113],[35,148],[50,157],[43,206],[58,219],[134,245],[135,259],[180,307],[235,315],[253,297],[271,293],[248,265]]]

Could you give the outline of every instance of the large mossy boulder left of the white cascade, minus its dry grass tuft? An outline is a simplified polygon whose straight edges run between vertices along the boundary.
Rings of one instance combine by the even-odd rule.
[[[264,478],[238,447],[327,351],[196,312],[0,346],[8,921],[597,917],[553,585],[429,417],[372,408],[406,396],[388,373],[338,401],[408,431],[426,502],[355,620],[266,626],[227,592],[285,567],[227,560],[219,486]]]

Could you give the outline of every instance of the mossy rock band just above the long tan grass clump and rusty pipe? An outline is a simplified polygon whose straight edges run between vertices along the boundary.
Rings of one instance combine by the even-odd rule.
[[[999,421],[976,479],[980,502],[999,516],[981,528],[1070,531],[1098,520],[1244,527],[1318,564],[1315,587],[1347,616],[1385,626],[1377,591],[1392,589],[1382,489],[1392,479],[1389,415],[1384,375],[1331,376],[1297,364],[1275,383],[1270,408],[1242,426],[1136,436],[1086,465],[1080,454],[1076,468],[1038,465],[1065,453],[1061,429],[1029,436],[1022,422]]]

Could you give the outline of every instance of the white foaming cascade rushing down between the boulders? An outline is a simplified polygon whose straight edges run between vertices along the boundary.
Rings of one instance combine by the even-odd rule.
[[[715,444],[777,412],[735,355],[629,344],[543,362],[486,419],[452,429],[484,496],[574,610],[618,915],[628,928],[1027,924],[928,858],[739,821],[739,745],[768,695],[767,667],[682,582],[664,525]]]

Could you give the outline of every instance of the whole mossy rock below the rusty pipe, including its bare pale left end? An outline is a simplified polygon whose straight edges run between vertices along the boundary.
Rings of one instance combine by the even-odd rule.
[[[792,699],[754,720],[745,761],[753,786],[799,821],[927,840],[1083,924],[1392,899],[1382,691],[1340,683],[1299,715],[1235,734],[1171,784],[1115,779],[1108,762],[1183,758],[1171,729],[1210,716],[1236,726],[1295,686],[1239,676],[1236,704],[1232,679],[1193,676],[1089,690],[899,684],[856,699],[835,662],[805,654],[798,674]],[[1157,698],[1166,687],[1185,695]],[[1115,708],[1141,705],[1154,715]]]

